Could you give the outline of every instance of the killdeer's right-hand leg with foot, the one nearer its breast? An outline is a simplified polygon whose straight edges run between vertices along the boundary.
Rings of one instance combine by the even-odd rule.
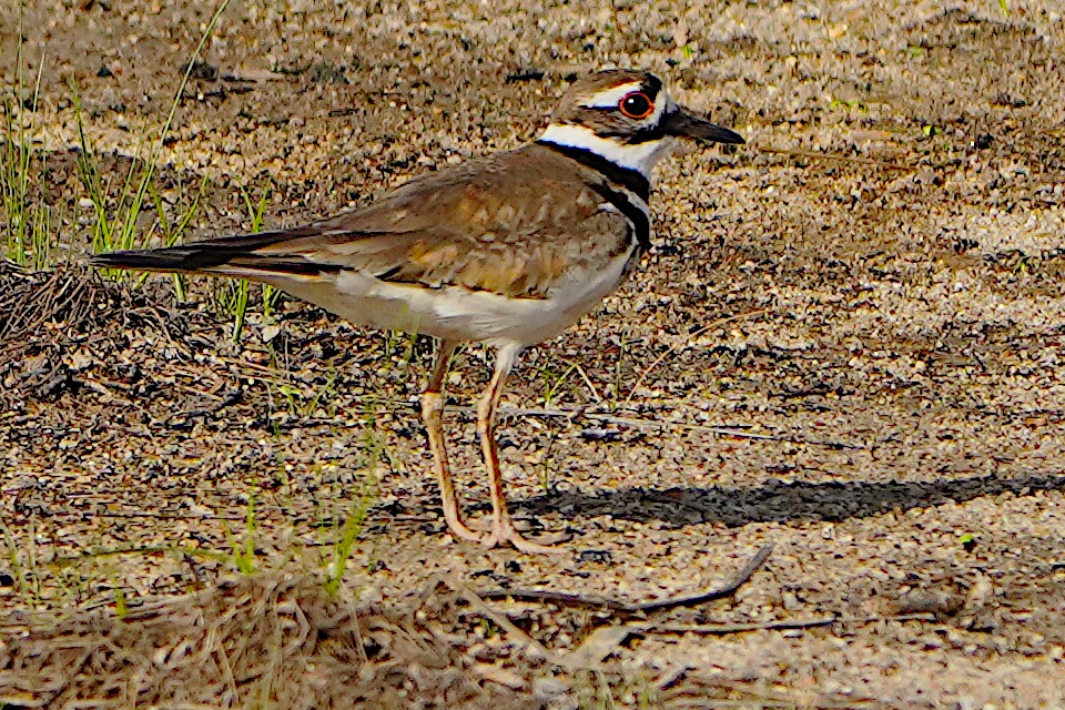
[[[538,545],[521,537],[514,527],[514,520],[507,511],[507,500],[503,494],[503,471],[499,470],[499,455],[496,450],[496,407],[507,382],[507,375],[514,367],[521,348],[517,345],[504,345],[496,352],[496,367],[491,381],[477,405],[477,434],[488,469],[488,486],[491,490],[491,530],[481,540],[488,547],[509,542],[523,552],[564,552],[564,549]]]

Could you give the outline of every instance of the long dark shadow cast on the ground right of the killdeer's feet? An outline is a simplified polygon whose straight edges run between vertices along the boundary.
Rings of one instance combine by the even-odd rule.
[[[1065,473],[939,478],[910,483],[780,483],[750,488],[724,486],[621,488],[594,493],[554,491],[514,500],[515,510],[534,516],[560,515],[567,519],[611,516],[671,527],[703,523],[741,526],[748,523],[866,518],[891,510],[926,508],[944,503],[964,503],[1010,493],[1031,495],[1039,490],[1065,490]]]

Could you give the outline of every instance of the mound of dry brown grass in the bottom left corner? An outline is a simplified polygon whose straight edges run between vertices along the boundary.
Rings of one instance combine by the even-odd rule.
[[[440,632],[455,605],[454,594],[428,590],[405,609],[382,610],[331,597],[318,580],[258,575],[121,617],[10,615],[0,631],[0,704],[537,707],[527,691],[484,682],[467,639]]]

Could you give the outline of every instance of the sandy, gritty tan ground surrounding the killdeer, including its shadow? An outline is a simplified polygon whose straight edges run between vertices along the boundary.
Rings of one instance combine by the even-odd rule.
[[[210,180],[192,235],[245,227],[243,185],[272,185],[267,225],[294,224],[515,146],[567,77],[610,64],[652,69],[748,138],[665,165],[656,253],[530,352],[505,397],[515,508],[569,531],[571,551],[444,534],[416,407],[429,343],[290,302],[278,334],[256,315],[234,346],[211,284],[178,303],[163,277],[9,268],[0,594],[21,620],[4,626],[7,670],[39,633],[29,611],[106,618],[115,588],[131,608],[210,589],[246,539],[258,569],[327,574],[338,528],[368,506],[352,604],[418,609],[442,579],[665,598],[724,584],[773,542],[732,598],[650,621],[841,619],[643,629],[608,647],[599,684],[550,674],[503,627],[511,646],[493,656],[469,640],[489,633],[483,619],[434,607],[466,639],[466,661],[440,663],[506,669],[478,672],[514,707],[1065,707],[1058,3],[354,4],[224,13],[205,51],[216,74],[197,72],[162,154],[174,213],[179,179]],[[58,254],[84,252],[92,219],[69,81],[120,190],[209,18],[192,2],[27,2],[51,152],[34,199],[61,214]],[[487,508],[468,409],[485,359],[468,349],[450,384],[471,514]],[[622,623],[487,604],[552,653]]]

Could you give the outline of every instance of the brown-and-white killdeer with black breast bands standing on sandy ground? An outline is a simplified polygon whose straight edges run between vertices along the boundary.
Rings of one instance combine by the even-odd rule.
[[[673,102],[653,74],[604,71],[572,83],[532,143],[422,175],[361,210],[306,226],[166,248],[113,252],[97,266],[239,276],[376,328],[438,338],[422,417],[452,532],[526,552],[507,511],[495,414],[525,348],[572,325],[651,245],[651,171],[676,139],[743,139]],[[477,407],[491,524],[462,518],[443,429],[455,348],[496,351]]]

